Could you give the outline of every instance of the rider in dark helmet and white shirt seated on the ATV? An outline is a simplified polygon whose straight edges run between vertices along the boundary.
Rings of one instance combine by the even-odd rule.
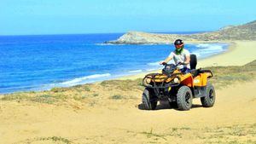
[[[166,58],[166,60],[160,61],[160,65],[168,63],[170,60],[174,60],[175,65],[181,64],[177,66],[177,68],[180,69],[181,72],[190,72],[190,54],[189,50],[184,49],[184,43],[183,40],[177,39],[174,42],[175,50],[171,52],[171,54]]]

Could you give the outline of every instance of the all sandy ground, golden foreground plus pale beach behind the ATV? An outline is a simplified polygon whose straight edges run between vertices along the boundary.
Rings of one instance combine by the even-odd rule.
[[[198,67],[243,66],[256,60],[256,41],[221,43],[230,43],[229,50],[199,60]],[[119,80],[135,83],[131,80],[145,74]],[[0,143],[256,143],[256,78],[240,82],[237,75],[231,79],[234,83],[216,89],[214,107],[201,107],[195,99],[193,108],[186,112],[167,105],[156,111],[143,110],[143,88],[123,82],[113,86],[118,83],[115,81],[86,84],[74,87],[75,91],[52,89],[16,93],[11,98],[1,95]],[[46,94],[61,98],[43,99]]]

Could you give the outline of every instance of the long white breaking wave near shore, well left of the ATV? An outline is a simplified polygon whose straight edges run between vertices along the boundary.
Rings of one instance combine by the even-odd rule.
[[[60,85],[62,85],[62,86],[72,86],[72,85],[76,85],[76,84],[81,84],[83,81],[88,80],[88,79],[103,78],[103,77],[110,77],[110,76],[111,76],[110,73],[93,74],[93,75],[85,76],[85,77],[81,77],[81,78],[74,78],[72,80],[62,82]]]

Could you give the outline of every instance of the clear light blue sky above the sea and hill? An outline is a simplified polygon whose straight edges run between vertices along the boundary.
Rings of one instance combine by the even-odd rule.
[[[0,0],[0,35],[195,32],[256,20],[255,0]]]

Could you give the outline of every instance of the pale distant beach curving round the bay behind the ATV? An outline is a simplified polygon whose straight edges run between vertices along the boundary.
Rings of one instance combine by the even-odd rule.
[[[189,41],[187,43],[206,43]],[[197,67],[209,66],[242,66],[256,59],[256,41],[212,41],[207,43],[228,43],[230,46],[226,52],[213,55],[210,58],[198,60]],[[160,72],[161,70],[152,71]],[[143,78],[148,72],[142,72],[136,75],[126,76],[118,79],[136,79]]]

